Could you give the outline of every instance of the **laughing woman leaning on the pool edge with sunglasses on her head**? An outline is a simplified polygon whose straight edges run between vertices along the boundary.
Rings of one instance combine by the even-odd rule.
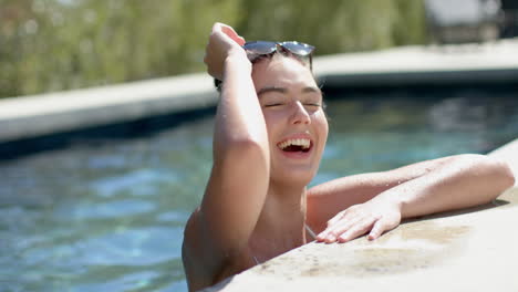
[[[308,190],[328,138],[312,49],[245,43],[232,28],[214,25],[205,63],[222,88],[213,170],[185,228],[189,290],[312,240],[374,240],[402,219],[486,204],[514,185],[505,163],[459,155]]]

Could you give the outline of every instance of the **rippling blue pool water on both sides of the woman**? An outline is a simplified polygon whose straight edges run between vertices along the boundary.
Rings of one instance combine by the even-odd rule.
[[[518,136],[516,91],[340,93],[312,184]],[[213,118],[147,135],[83,138],[0,161],[0,288],[186,291],[183,228],[210,170]]]

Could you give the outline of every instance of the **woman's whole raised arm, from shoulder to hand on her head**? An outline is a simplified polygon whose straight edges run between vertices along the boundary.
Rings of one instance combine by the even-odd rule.
[[[240,252],[267,194],[268,136],[242,43],[230,27],[216,23],[207,45],[208,72],[222,80],[224,86],[216,114],[213,170],[201,205],[185,230],[186,270],[197,263],[215,273]]]

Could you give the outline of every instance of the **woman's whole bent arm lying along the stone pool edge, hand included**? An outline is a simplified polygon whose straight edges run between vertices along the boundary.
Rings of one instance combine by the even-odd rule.
[[[452,156],[365,176],[356,182],[342,178],[310,190],[308,218],[323,230],[319,241],[345,242],[367,232],[375,239],[404,218],[489,202],[515,179],[505,163],[483,155]],[[356,192],[360,199],[354,199]],[[342,202],[334,217],[330,216],[331,208],[336,210],[333,201],[334,206]],[[310,217],[310,208],[320,212]]]

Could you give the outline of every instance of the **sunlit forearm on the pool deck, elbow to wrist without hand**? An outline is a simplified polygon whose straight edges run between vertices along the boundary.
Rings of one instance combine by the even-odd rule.
[[[508,166],[481,155],[463,155],[434,171],[396,186],[403,218],[487,204],[514,185]]]

